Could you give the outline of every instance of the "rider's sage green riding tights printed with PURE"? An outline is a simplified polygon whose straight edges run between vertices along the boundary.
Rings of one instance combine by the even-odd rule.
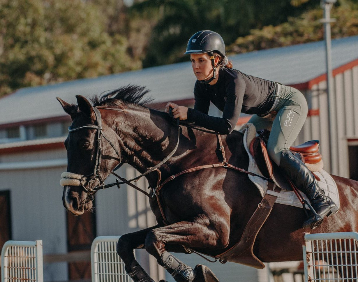
[[[276,115],[274,113],[268,117],[253,115],[248,122],[253,123],[256,130],[271,131],[267,151],[271,159],[280,165],[281,151],[289,149],[296,140],[305,123],[308,106],[303,94],[290,86],[280,84],[275,97],[275,106],[272,111],[277,112]]]

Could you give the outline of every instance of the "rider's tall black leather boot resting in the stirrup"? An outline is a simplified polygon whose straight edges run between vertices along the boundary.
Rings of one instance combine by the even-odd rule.
[[[326,196],[324,191],[319,188],[312,172],[290,150],[282,151],[280,169],[285,172],[298,189],[306,194],[313,209],[318,214],[318,217],[313,214],[310,215],[304,221],[303,228],[311,225],[311,228],[314,229],[322,223],[326,215],[329,216],[338,212],[338,207],[332,199]]]

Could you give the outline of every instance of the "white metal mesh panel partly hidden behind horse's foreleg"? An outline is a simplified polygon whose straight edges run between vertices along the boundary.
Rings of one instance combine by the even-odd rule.
[[[131,282],[124,262],[117,254],[120,236],[99,236],[92,242],[92,282]]]

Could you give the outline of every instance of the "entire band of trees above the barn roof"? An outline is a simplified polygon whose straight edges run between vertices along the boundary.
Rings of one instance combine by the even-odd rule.
[[[186,60],[189,37],[232,52],[323,38],[320,0],[0,0],[0,96],[27,86]],[[333,37],[358,34],[358,0],[338,0]]]

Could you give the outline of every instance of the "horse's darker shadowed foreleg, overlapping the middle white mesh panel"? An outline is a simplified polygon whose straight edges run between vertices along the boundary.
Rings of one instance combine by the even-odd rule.
[[[135,282],[154,282],[134,258],[134,249],[144,248],[145,238],[155,225],[137,232],[122,235],[117,243],[117,253],[125,264],[125,270]]]

